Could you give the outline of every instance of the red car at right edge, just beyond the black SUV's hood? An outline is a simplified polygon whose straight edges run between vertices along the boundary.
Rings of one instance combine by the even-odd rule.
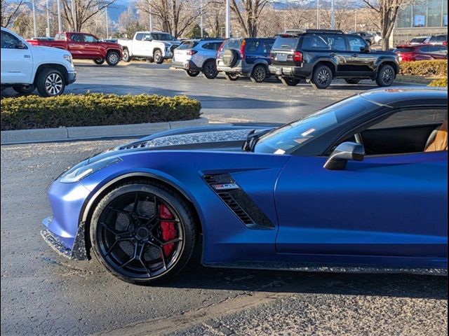
[[[400,62],[448,59],[446,45],[398,45],[394,52],[398,55]]]

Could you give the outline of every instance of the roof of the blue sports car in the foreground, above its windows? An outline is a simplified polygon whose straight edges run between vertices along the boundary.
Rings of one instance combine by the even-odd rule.
[[[375,104],[394,108],[448,105],[448,89],[445,87],[387,87],[362,92],[360,96]]]

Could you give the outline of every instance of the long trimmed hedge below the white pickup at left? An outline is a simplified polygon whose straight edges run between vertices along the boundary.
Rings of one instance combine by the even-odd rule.
[[[186,96],[63,94],[1,99],[1,130],[160,123],[199,118],[201,104]]]

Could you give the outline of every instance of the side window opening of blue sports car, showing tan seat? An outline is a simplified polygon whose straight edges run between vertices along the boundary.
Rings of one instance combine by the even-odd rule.
[[[448,113],[435,109],[401,111],[346,141],[363,144],[366,155],[448,151]]]

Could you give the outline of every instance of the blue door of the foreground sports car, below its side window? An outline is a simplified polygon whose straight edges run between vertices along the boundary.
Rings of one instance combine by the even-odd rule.
[[[293,156],[282,170],[277,253],[447,258],[447,149],[368,155],[342,170],[324,169],[326,159]]]

